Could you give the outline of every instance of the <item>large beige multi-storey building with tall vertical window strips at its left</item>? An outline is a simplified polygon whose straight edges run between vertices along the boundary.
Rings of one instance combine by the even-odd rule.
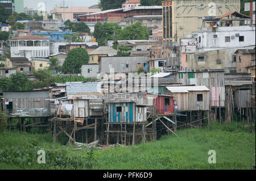
[[[166,45],[179,43],[182,37],[203,27],[204,17],[240,12],[240,0],[176,0],[163,1],[162,6]]]

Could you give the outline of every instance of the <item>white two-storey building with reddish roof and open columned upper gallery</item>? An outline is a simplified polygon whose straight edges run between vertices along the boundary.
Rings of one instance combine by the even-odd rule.
[[[25,35],[10,39],[11,57],[48,57],[49,39],[36,35]]]

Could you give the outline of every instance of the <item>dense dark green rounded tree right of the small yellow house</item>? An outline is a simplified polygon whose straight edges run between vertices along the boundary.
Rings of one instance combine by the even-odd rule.
[[[89,54],[84,48],[73,48],[69,51],[65,58],[64,64],[61,68],[64,74],[67,73],[81,73],[82,64],[89,62]]]

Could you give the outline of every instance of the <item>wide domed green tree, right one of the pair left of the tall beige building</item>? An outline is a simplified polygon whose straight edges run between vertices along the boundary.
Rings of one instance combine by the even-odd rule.
[[[148,38],[147,27],[143,26],[141,22],[123,28],[117,36],[118,40],[148,40]]]

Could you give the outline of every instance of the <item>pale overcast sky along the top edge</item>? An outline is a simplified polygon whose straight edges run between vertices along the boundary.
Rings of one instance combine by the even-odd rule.
[[[97,5],[99,0],[65,0],[65,6],[92,6]],[[55,5],[63,5],[63,0],[24,0],[24,7],[32,7],[37,10],[38,3],[46,3],[46,10],[49,12]]]

